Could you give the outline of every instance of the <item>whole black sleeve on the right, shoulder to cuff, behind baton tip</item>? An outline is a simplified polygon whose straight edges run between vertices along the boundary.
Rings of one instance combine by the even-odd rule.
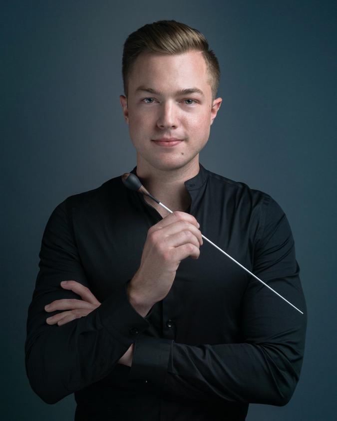
[[[169,394],[194,401],[289,402],[304,355],[306,303],[286,215],[270,196],[262,208],[253,273],[304,314],[251,277],[242,302],[242,343],[190,346],[139,338],[133,379],[149,379]]]

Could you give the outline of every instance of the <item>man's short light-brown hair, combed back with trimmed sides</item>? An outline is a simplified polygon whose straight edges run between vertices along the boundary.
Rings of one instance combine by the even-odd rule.
[[[175,20],[158,20],[148,23],[126,38],[122,60],[125,96],[128,95],[128,78],[132,65],[140,53],[174,55],[188,51],[202,52],[210,76],[212,98],[215,99],[220,79],[220,66],[217,57],[209,49],[207,39],[201,32]]]

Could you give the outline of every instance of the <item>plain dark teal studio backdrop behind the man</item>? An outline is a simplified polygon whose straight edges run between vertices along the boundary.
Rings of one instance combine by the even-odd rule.
[[[1,2],[1,420],[73,419],[72,396],[48,406],[25,375],[41,237],[67,196],[136,164],[122,46],[158,19],[201,30],[220,61],[223,104],[200,162],[270,194],[296,241],[301,380],[286,407],[251,405],[247,420],[336,420],[337,3],[288,0]]]

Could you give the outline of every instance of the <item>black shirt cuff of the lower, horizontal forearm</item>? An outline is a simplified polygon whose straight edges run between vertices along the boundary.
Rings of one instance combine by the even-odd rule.
[[[142,337],[133,349],[130,380],[145,380],[163,385],[167,374],[173,340]]]

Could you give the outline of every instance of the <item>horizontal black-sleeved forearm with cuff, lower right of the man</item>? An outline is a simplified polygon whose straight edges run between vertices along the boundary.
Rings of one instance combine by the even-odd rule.
[[[293,360],[285,354],[282,346],[190,346],[144,338],[136,341],[130,376],[157,384],[179,399],[285,405],[295,390],[302,362],[294,350]]]

